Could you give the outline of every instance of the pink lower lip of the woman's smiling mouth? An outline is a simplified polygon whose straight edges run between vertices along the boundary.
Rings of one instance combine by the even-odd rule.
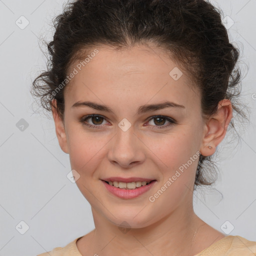
[[[130,199],[130,198],[134,198],[139,196],[142,193],[145,193],[146,191],[148,191],[153,184],[156,182],[156,180],[151,181],[149,184],[144,185],[144,186],[140,186],[134,189],[124,189],[124,188],[119,188],[119,187],[115,187],[112,185],[109,185],[108,183],[106,183],[104,180],[101,180],[103,182],[103,184],[105,185],[106,189],[113,193],[114,195],[123,198],[123,199]]]

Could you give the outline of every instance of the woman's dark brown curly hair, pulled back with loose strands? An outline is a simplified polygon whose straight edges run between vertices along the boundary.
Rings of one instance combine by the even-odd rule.
[[[190,74],[201,93],[204,117],[214,114],[221,99],[247,119],[241,104],[239,49],[229,42],[221,22],[221,10],[205,0],[75,0],[63,6],[53,20],[53,40],[46,42],[47,71],[38,75],[30,92],[41,106],[51,111],[56,99],[59,116],[64,117],[63,91],[71,64],[84,59],[89,49],[110,45],[121,49],[151,42],[164,49]],[[64,81],[64,83],[63,83]],[[56,88],[61,89],[56,93]],[[236,99],[236,100],[235,100]],[[234,128],[233,119],[229,126]],[[235,130],[235,128],[234,128]],[[207,164],[209,171],[206,171]],[[200,154],[194,188],[210,185],[216,174],[212,155]]]

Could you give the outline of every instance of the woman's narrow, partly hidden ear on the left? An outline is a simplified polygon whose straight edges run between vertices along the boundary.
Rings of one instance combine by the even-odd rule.
[[[62,149],[63,152],[68,153],[64,120],[62,120],[60,118],[60,116],[58,115],[57,109],[56,109],[56,104],[57,104],[56,99],[52,99],[51,111],[52,111],[52,116],[53,116],[53,119],[55,122],[56,135],[58,138],[58,143],[59,143],[60,148]]]

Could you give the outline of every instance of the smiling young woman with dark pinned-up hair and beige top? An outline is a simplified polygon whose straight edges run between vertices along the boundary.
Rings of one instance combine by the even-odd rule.
[[[233,100],[238,49],[218,10],[204,0],[77,0],[54,25],[33,94],[52,111],[95,229],[50,255],[256,253],[256,242],[193,211],[232,110],[245,117]]]

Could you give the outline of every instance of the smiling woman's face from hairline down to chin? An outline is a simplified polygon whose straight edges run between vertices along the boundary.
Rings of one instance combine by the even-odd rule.
[[[70,66],[78,73],[64,91],[63,126],[55,117],[59,144],[79,173],[78,188],[95,212],[115,224],[144,227],[184,212],[192,203],[205,142],[199,91],[162,49],[97,49],[86,65],[79,65],[81,70],[79,61]],[[105,109],[77,103],[84,101]],[[167,101],[181,106],[141,108]],[[102,180],[109,177],[155,181],[147,191],[126,198],[106,188]]]

